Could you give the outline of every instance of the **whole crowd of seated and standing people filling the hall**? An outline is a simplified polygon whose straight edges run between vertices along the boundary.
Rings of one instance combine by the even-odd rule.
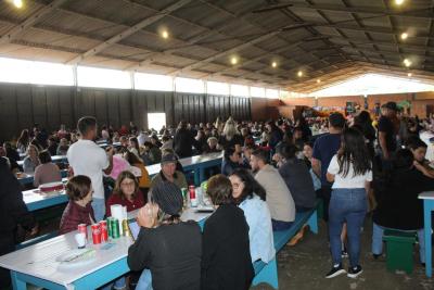
[[[434,190],[434,169],[419,131],[430,124],[400,115],[396,103],[388,102],[378,119],[361,111],[267,123],[231,117],[214,124],[180,122],[176,129],[161,131],[130,123],[115,131],[110,126],[99,130],[94,117],[82,117],[77,131],[62,127],[51,136],[36,126],[31,136],[23,130],[15,148],[8,142],[1,151],[0,178],[7,185],[1,197],[14,203],[1,203],[5,225],[0,230],[8,235],[1,236],[0,255],[13,251],[18,224],[37,232],[17,198],[21,186],[14,173],[34,173],[35,186],[59,181],[60,168],[51,162],[55,153],[66,154],[71,176],[61,234],[110,216],[112,204],[139,210],[141,230],[128,251],[130,269],[140,274],[137,289],[248,289],[253,263],[268,263],[276,255],[272,231],[291,228],[296,213],[316,207],[317,199],[323,203],[332,256],[326,277],[346,273],[355,278],[362,273],[360,235],[367,213],[372,212],[374,259],[382,254],[384,229],[416,230],[423,237],[418,194]],[[95,140],[103,140],[105,149]],[[26,152],[23,168],[17,152]],[[221,167],[207,171],[206,194],[215,211],[201,234],[195,222],[180,219],[181,189],[189,180],[179,159],[214,152],[222,152]],[[151,179],[145,166],[156,163],[161,172]],[[113,181],[110,192],[107,178]],[[424,263],[423,239],[419,241]],[[113,283],[107,287],[120,289],[126,279]]]

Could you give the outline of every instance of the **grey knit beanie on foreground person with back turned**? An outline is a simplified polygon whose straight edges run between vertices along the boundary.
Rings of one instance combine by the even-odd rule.
[[[177,215],[182,210],[183,199],[181,189],[170,181],[162,181],[153,187],[151,199],[168,215]]]

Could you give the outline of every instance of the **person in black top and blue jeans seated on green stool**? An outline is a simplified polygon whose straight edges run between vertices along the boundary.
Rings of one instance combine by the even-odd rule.
[[[383,252],[383,231],[386,228],[416,230],[419,237],[421,263],[425,263],[422,191],[434,190],[434,179],[416,168],[413,154],[408,149],[397,151],[394,169],[382,188],[375,189],[378,206],[373,211],[372,254]]]

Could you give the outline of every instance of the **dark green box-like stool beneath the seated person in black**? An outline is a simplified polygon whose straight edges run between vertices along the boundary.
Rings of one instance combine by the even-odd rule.
[[[413,244],[416,231],[384,230],[383,240],[386,242],[387,270],[413,272]]]

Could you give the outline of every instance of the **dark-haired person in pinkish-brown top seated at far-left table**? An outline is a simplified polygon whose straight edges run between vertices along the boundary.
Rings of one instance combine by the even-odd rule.
[[[58,165],[51,162],[50,153],[47,150],[39,152],[40,165],[35,169],[34,186],[39,187],[40,185],[48,182],[62,181],[61,171]]]

